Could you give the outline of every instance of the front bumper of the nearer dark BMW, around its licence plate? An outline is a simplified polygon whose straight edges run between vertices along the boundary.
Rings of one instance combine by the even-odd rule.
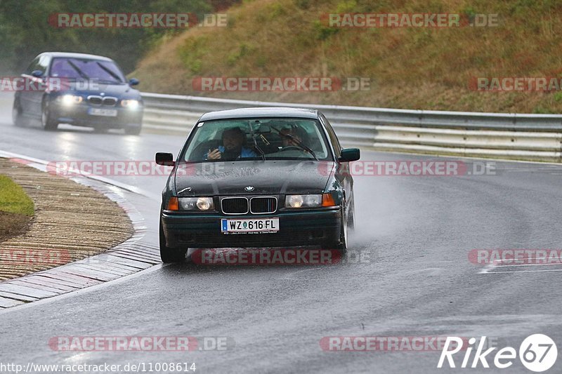
[[[223,234],[223,218],[279,218],[279,231],[270,234]],[[341,208],[315,211],[291,211],[272,215],[185,214],[164,211],[161,214],[166,246],[189,248],[256,248],[324,246],[338,243]]]

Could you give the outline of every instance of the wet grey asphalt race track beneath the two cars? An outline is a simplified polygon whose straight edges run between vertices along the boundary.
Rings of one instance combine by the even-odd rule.
[[[11,102],[2,100],[0,149],[38,159],[152,160],[159,151],[177,154],[184,140],[70,126],[56,133],[15,128]],[[363,152],[362,159],[431,158]],[[562,248],[562,167],[498,162],[496,168],[496,175],[483,176],[356,177],[358,222],[350,253],[367,253],[363,262],[169,265],[0,312],[0,363],[195,362],[195,373],[434,373],[448,371],[436,368],[437,351],[325,352],[319,342],[340,335],[486,335],[518,349],[528,335],[546,333],[560,349],[562,267],[479,274],[483,267],[468,254],[474,248]],[[152,227],[147,240],[156,243],[156,197],[165,178],[115,180],[149,192],[123,195],[143,213]],[[60,335],[227,337],[228,345],[207,352],[57,352],[48,341]],[[561,360],[549,373],[562,371]],[[530,373],[518,360],[509,369],[465,371]]]

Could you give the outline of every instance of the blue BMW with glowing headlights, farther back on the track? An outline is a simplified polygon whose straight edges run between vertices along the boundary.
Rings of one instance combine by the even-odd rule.
[[[122,128],[141,133],[143,100],[110,58],[82,53],[46,52],[35,58],[21,79],[13,102],[13,123],[41,121],[46,131],[59,123],[104,132]]]

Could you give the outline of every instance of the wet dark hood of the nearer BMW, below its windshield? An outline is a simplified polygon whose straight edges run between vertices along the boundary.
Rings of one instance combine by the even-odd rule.
[[[321,194],[334,162],[230,161],[183,163],[176,170],[178,196]],[[254,187],[247,191],[246,187]]]

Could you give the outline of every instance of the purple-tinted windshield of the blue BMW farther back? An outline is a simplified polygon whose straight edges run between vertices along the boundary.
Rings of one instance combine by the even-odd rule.
[[[124,84],[125,77],[112,61],[55,58],[50,76],[68,79],[96,79],[100,83]]]

